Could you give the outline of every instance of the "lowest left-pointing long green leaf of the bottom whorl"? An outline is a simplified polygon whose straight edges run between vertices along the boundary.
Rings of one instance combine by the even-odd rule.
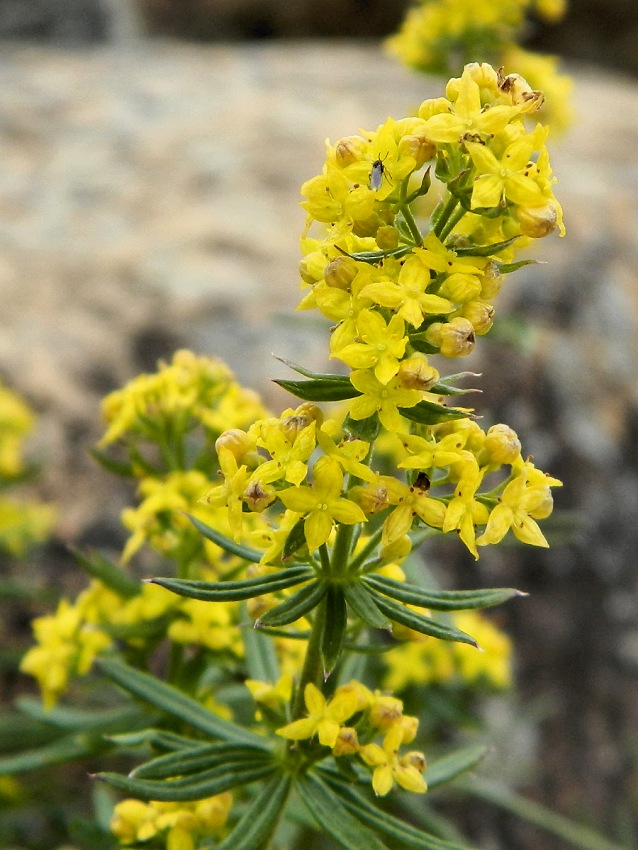
[[[94,779],[108,782],[118,791],[138,800],[159,800],[161,802],[184,803],[191,800],[202,800],[265,779],[275,771],[274,765],[260,764],[240,767],[229,765],[214,770],[205,770],[183,779],[155,780],[129,779],[119,773],[97,773]]]

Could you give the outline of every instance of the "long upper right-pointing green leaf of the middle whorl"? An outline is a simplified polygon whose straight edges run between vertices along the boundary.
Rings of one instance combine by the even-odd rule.
[[[493,605],[501,605],[514,596],[526,595],[511,587],[481,590],[425,590],[414,584],[375,575],[365,576],[362,581],[385,596],[391,596],[392,599],[397,599],[406,605],[431,608],[433,611],[469,611],[474,608],[490,608]]]

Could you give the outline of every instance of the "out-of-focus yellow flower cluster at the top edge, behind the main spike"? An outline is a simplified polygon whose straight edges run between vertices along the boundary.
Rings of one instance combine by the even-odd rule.
[[[478,58],[517,68],[546,94],[544,120],[565,127],[571,121],[570,78],[558,72],[555,57],[523,50],[517,42],[528,14],[555,23],[566,6],[566,0],[419,0],[387,47],[410,68],[445,77],[459,61]]]

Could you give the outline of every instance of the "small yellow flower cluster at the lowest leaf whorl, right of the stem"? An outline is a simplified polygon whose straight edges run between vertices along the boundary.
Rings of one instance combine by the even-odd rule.
[[[372,692],[354,680],[340,685],[329,700],[310,682],[304,700],[307,716],[282,726],[278,735],[291,741],[316,735],[334,756],[358,756],[373,768],[372,787],[379,796],[387,794],[395,782],[407,791],[426,791],[423,753],[399,755],[402,744],[414,741],[419,725],[417,717],[403,713],[401,700]],[[353,725],[346,725],[346,721]],[[383,736],[381,744],[372,740],[376,735]]]

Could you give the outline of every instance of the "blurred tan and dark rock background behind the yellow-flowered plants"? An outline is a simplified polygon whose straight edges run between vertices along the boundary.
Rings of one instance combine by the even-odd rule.
[[[179,346],[226,358],[276,407],[271,352],[323,365],[321,330],[291,315],[299,186],[326,137],[440,92],[381,48],[406,6],[0,0],[0,378],[39,416],[38,489],[60,511],[21,567],[34,584],[75,592],[65,544],[123,542],[133,494],[88,454],[106,392]],[[551,148],[568,236],[508,278],[467,368],[484,373],[477,406],[565,482],[565,521],[547,553],[436,560],[450,584],[531,594],[498,614],[520,703],[486,718],[512,741],[501,769],[638,846],[638,4],[572,0],[526,46],[574,76],[576,120]],[[26,647],[38,612],[5,606],[5,644]],[[3,679],[5,699],[27,687]],[[498,810],[463,817],[485,848],[570,846]]]

